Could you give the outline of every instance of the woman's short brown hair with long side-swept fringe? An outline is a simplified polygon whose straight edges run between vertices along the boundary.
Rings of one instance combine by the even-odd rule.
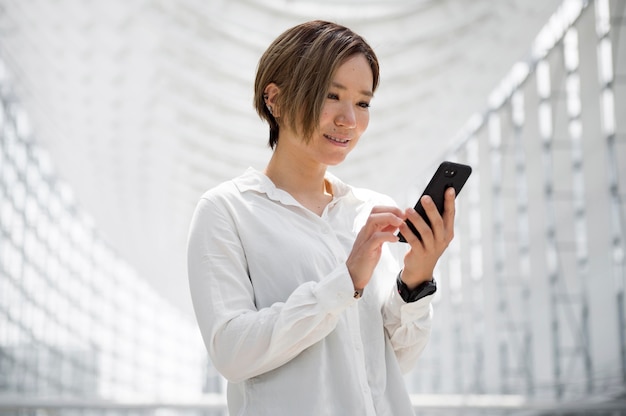
[[[302,23],[286,30],[267,48],[257,67],[254,106],[270,125],[269,146],[278,141],[279,122],[265,105],[265,87],[280,88],[277,104],[280,119],[310,140],[318,127],[322,105],[337,68],[362,53],[373,75],[372,92],[378,87],[378,58],[370,45],[345,26],[322,20]]]

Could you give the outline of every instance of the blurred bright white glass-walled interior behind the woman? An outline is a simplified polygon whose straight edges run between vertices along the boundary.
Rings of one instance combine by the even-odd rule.
[[[413,205],[473,166],[419,415],[626,415],[625,0],[0,0],[0,415],[225,415],[201,194],[270,157],[259,57],[311,19],[381,86],[332,171]]]

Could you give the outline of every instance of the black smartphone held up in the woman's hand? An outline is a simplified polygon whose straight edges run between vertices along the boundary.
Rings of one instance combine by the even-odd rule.
[[[428,182],[428,185],[426,185],[422,196],[430,195],[430,197],[433,199],[433,202],[437,206],[439,213],[443,214],[444,193],[446,189],[454,188],[454,191],[458,196],[459,192],[461,192],[461,188],[463,188],[463,185],[465,185],[465,182],[467,182],[467,179],[469,178],[469,175],[471,173],[471,166],[448,161],[442,162],[435,171],[435,174],[431,178],[430,182]],[[420,198],[417,200],[417,204],[415,204],[415,210],[418,214],[422,216],[422,218],[424,218],[426,224],[430,226],[430,221],[428,220],[428,215],[426,215],[426,211],[424,211],[424,207],[422,207],[421,199],[422,197],[420,196]],[[411,221],[407,220],[406,223],[411,231],[413,231],[413,233],[417,236],[417,238],[421,240],[422,237],[420,236],[419,231],[415,229]],[[401,242],[406,243],[406,239],[404,238],[402,233],[398,233],[398,237],[400,238]]]

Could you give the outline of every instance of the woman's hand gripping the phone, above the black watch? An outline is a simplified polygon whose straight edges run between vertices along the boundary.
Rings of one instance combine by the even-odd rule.
[[[432,198],[427,195],[422,197],[422,206],[430,221],[430,227],[415,209],[406,210],[406,218],[421,235],[420,241],[406,223],[400,226],[400,232],[411,246],[404,256],[401,276],[409,289],[432,279],[437,261],[454,238],[454,199],[454,188],[448,188],[445,193],[444,211],[440,215]]]

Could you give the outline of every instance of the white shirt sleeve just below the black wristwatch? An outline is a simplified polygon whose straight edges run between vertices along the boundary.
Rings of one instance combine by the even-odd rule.
[[[434,295],[406,303],[395,284],[383,306],[385,331],[403,373],[409,372],[430,339]]]

